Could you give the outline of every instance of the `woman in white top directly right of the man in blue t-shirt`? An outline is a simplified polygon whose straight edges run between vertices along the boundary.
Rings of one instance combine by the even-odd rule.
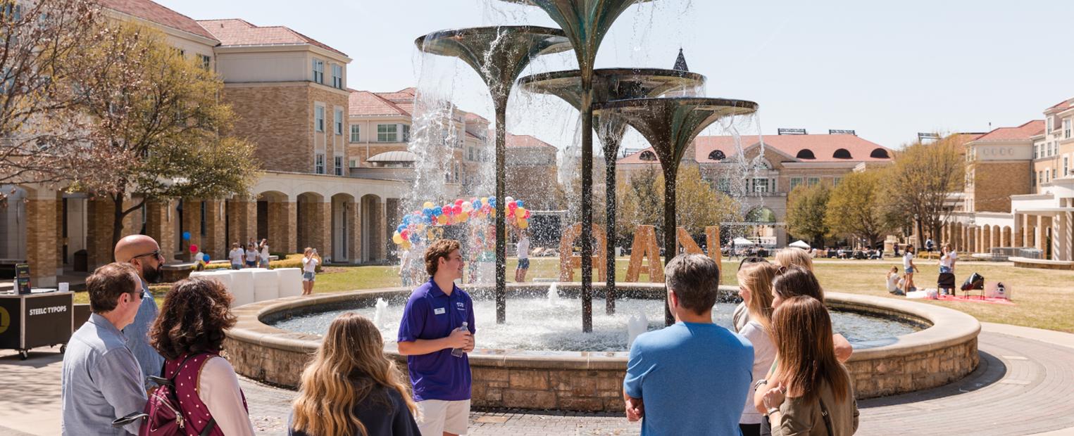
[[[753,379],[765,378],[775,360],[775,345],[768,334],[768,325],[772,316],[772,280],[780,272],[780,267],[767,261],[743,264],[738,272],[739,295],[750,314],[750,321],[740,330],[753,344]],[[739,429],[743,436],[760,434],[763,416],[754,407],[752,397],[746,399],[739,419]]]

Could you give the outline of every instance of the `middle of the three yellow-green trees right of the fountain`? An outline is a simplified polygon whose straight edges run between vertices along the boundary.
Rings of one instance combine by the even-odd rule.
[[[888,228],[880,177],[879,171],[852,172],[831,190],[825,224],[833,234],[876,244]]]

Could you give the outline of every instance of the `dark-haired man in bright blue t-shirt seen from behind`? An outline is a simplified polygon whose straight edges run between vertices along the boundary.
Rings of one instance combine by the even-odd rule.
[[[642,420],[642,435],[738,435],[753,345],[712,324],[720,268],[683,254],[664,274],[677,322],[634,341],[623,379],[626,417]]]

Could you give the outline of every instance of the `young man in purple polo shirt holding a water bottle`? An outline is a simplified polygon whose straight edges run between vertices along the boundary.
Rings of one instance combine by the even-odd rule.
[[[406,356],[423,436],[465,435],[469,419],[474,350],[474,301],[454,281],[463,276],[459,241],[441,239],[425,250],[430,280],[410,294],[400,321],[400,354]],[[466,322],[467,328],[459,328]],[[462,356],[451,350],[462,348]]]

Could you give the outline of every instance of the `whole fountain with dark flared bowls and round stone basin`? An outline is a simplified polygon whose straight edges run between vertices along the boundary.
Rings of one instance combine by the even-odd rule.
[[[717,119],[750,114],[752,102],[681,95],[696,89],[703,77],[668,70],[594,70],[600,41],[624,10],[645,0],[505,0],[536,5],[563,30],[537,27],[485,27],[435,32],[418,39],[425,52],[458,57],[474,67],[492,93],[496,111],[496,196],[504,196],[506,107],[518,75],[534,56],[574,48],[579,69],[535,74],[521,80],[524,89],[557,95],[582,115],[582,282],[575,284],[511,284],[505,282],[506,201],[496,214],[496,283],[492,289],[467,286],[475,297],[478,348],[469,355],[473,404],[476,407],[622,411],[622,377],[626,370],[627,330],[645,329],[644,319],[672,319],[663,284],[614,283],[614,256],[609,256],[606,285],[607,314],[592,313],[592,170],[594,121],[614,177],[613,156],[626,125],[652,145],[664,171],[666,253],[676,253],[676,176],[679,162],[695,136]],[[663,95],[663,96],[662,96]],[[614,179],[609,183],[609,220],[614,212]],[[610,225],[610,223],[609,223]],[[613,235],[613,232],[609,232]],[[613,240],[613,238],[609,238]],[[609,253],[611,245],[608,246]],[[616,289],[618,287],[618,289]],[[487,294],[495,295],[495,324]],[[721,287],[724,301],[715,321],[729,324],[726,297],[735,288]],[[321,341],[331,319],[340,311],[376,318],[386,339],[386,352],[406,360],[393,343],[400,307],[410,289],[371,289],[315,297],[285,298],[235,309],[238,324],[228,333],[226,347],[235,370],[246,376],[296,386],[300,374]],[[616,296],[621,313],[615,312]],[[507,297],[519,309],[506,316]],[[575,300],[581,300],[579,304]],[[383,299],[383,301],[378,301]],[[664,300],[663,304],[658,303]],[[388,305],[386,305],[388,303]],[[888,395],[946,384],[977,364],[979,324],[960,312],[891,299],[829,292],[826,303],[834,327],[857,348],[847,362],[858,399]],[[844,310],[847,312],[839,312]],[[625,314],[624,314],[625,313]],[[861,316],[868,313],[870,316]],[[629,316],[640,314],[639,316]],[[645,315],[649,316],[645,316]],[[575,322],[582,318],[582,330]],[[633,320],[632,320],[633,318]],[[883,319],[877,319],[883,318]],[[923,331],[920,327],[932,326]],[[870,334],[865,334],[871,332]],[[938,367],[915,377],[920,367]]]

